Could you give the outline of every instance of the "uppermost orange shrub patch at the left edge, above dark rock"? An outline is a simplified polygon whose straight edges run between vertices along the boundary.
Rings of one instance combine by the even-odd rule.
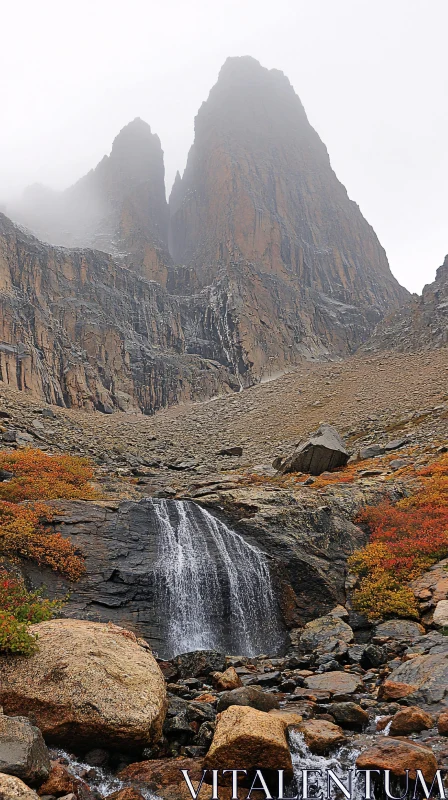
[[[89,481],[93,469],[86,458],[50,456],[41,450],[26,448],[0,453],[0,469],[14,477],[0,483],[0,499],[20,503],[23,500],[94,500],[97,493]]]

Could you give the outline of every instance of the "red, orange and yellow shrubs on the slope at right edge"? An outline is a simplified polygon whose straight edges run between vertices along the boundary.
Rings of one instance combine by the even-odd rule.
[[[448,556],[448,457],[419,470],[417,478],[409,497],[367,506],[357,518],[371,536],[349,560],[360,578],[353,599],[371,621],[417,617],[409,581]]]

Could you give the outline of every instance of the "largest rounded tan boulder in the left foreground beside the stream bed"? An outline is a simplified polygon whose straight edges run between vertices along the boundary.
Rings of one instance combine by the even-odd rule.
[[[49,742],[134,750],[157,741],[165,681],[151,653],[123,628],[55,619],[31,627],[31,658],[0,659],[0,703],[32,717]]]

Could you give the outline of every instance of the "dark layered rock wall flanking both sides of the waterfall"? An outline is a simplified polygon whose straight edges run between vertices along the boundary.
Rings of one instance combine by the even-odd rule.
[[[27,562],[27,579],[33,586],[43,584],[51,597],[69,593],[64,615],[129,627],[163,656],[168,620],[155,602],[151,570],[158,531],[149,504],[57,501],[54,506],[53,525],[85,554],[86,577],[69,584]],[[291,501],[280,517],[277,510],[270,519],[266,514],[235,518],[232,525],[269,558],[280,624],[297,627],[345,600],[346,559],[364,542],[364,534],[342,514],[328,507],[298,508]]]

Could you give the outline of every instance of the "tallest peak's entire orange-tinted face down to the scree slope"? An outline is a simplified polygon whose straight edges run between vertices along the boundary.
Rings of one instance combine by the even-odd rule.
[[[407,296],[291,84],[252,58],[228,59],[199,110],[170,210],[175,262],[230,282],[260,374],[354,349]]]

